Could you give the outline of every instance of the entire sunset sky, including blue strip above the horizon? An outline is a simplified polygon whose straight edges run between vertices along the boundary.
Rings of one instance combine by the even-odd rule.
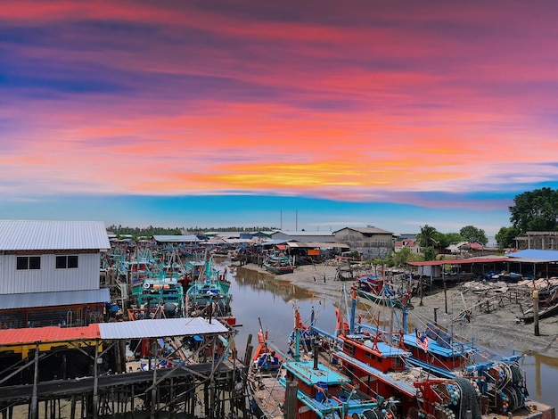
[[[558,187],[558,4],[7,1],[0,218],[510,226]]]

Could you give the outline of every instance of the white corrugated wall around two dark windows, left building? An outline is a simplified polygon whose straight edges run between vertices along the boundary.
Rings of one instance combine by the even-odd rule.
[[[46,254],[40,269],[17,270],[16,258],[0,255],[0,294],[99,289],[100,253],[79,254],[77,269],[56,269],[56,255]]]

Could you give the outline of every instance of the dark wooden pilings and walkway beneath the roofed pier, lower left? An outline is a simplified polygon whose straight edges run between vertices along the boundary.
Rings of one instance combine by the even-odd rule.
[[[242,380],[242,367],[239,363],[234,369],[233,363],[227,361],[218,368],[207,363],[191,368],[163,368],[156,373],[97,375],[78,380],[37,382],[33,386],[10,386],[14,396],[10,399],[4,394],[0,401],[0,417],[77,419],[163,415],[217,418],[234,411],[235,417],[251,419],[250,409],[246,408],[246,393],[240,395],[235,391],[235,383]]]

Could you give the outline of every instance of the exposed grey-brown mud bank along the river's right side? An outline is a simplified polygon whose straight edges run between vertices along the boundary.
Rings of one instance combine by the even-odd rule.
[[[244,267],[266,272],[264,268],[254,264]],[[300,288],[316,292],[316,295],[341,300],[342,285],[345,284],[347,288],[350,288],[351,282],[336,280],[336,274],[336,266],[318,265],[297,267],[293,274],[277,277],[282,281],[294,283]],[[496,286],[498,285],[506,287],[505,283],[497,283]],[[510,299],[509,296],[514,292],[504,292],[502,295],[506,297],[492,298],[487,310],[486,295],[479,290],[473,291],[479,286],[482,286],[479,282],[450,283],[446,292],[440,288],[430,289],[425,286],[423,288],[423,305],[420,304],[421,299],[418,296],[414,296],[412,299],[414,308],[409,311],[409,324],[416,325],[420,329],[420,325],[425,325],[426,322],[434,319],[434,308],[437,308],[436,315],[439,325],[453,328],[457,335],[468,340],[474,339],[489,349],[496,349],[505,355],[510,355],[512,350],[520,353],[533,351],[546,357],[558,358],[558,316],[540,320],[539,335],[536,336],[535,326],[532,323],[525,325],[517,318],[521,315],[518,301],[524,305],[524,298]],[[465,305],[472,312],[470,321],[462,316]],[[363,308],[368,312],[381,309],[366,300],[361,300],[358,308]],[[385,316],[385,314],[381,316]]]

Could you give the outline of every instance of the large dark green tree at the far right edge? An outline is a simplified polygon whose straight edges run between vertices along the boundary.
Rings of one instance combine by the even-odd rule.
[[[510,221],[521,233],[558,230],[558,191],[541,188],[513,198]]]

